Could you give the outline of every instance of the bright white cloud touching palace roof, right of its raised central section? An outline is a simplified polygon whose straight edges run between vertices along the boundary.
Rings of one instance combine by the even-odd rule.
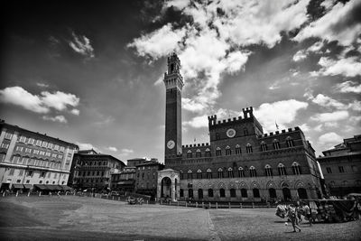
[[[275,122],[281,128],[287,128],[296,118],[301,109],[309,106],[306,102],[295,99],[282,100],[273,103],[264,103],[255,109],[255,116],[263,125],[266,132],[275,129]]]

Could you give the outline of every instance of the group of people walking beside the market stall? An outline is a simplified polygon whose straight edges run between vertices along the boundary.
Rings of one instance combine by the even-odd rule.
[[[296,232],[296,229],[301,232],[299,224],[302,221],[301,216],[304,216],[305,219],[309,220],[310,226],[312,226],[312,213],[309,205],[306,203],[297,203],[296,205],[278,205],[276,215],[281,218],[288,218],[293,227],[293,232]],[[286,225],[288,223],[286,222]]]

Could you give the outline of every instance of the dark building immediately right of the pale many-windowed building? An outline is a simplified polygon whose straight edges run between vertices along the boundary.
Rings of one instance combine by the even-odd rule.
[[[74,155],[72,186],[80,190],[110,189],[111,174],[122,171],[125,163],[112,155],[94,150],[79,151]]]

